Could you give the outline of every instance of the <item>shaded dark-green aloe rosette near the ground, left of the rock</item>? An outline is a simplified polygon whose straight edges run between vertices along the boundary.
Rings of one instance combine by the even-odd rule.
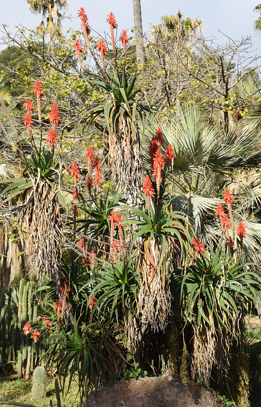
[[[67,375],[70,375],[69,391],[75,374],[78,374],[81,399],[102,382],[114,381],[121,375],[123,356],[119,347],[121,343],[115,340],[116,332],[117,329],[109,323],[79,325],[75,321],[74,332],[64,331],[49,338],[54,343],[48,352],[58,353],[57,367],[63,391]]]

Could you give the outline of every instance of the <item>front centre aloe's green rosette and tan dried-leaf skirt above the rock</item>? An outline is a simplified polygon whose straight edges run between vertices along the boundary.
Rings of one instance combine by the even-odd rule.
[[[143,324],[150,325],[154,331],[164,331],[171,310],[171,264],[185,254],[185,240],[190,241],[183,225],[186,219],[180,212],[168,212],[167,205],[157,208],[155,214],[151,210],[150,216],[137,208],[129,209],[139,217],[139,220],[124,221],[135,224],[137,230],[130,251],[134,245],[138,247],[138,311]]]

